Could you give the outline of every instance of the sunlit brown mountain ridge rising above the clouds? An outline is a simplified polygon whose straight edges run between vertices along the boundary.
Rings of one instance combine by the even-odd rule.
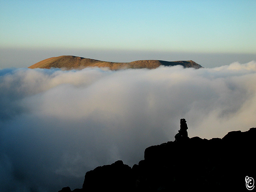
[[[77,56],[58,56],[42,60],[28,68],[67,68],[67,69],[82,69],[86,67],[108,67],[111,70],[126,69],[126,68],[158,68],[163,66],[182,65],[184,68],[202,68],[196,62],[189,61],[162,61],[162,60],[138,60],[133,62],[106,62],[95,59],[82,58]]]

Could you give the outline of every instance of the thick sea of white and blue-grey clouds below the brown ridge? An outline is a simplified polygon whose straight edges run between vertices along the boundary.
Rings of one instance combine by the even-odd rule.
[[[256,127],[256,62],[218,68],[0,70],[0,191],[82,188],[87,171],[188,136]]]

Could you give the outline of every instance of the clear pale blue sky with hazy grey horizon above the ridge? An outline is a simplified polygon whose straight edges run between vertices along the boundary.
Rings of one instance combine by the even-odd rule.
[[[256,57],[254,0],[0,3],[0,68],[60,55],[113,62],[194,60],[205,67]]]

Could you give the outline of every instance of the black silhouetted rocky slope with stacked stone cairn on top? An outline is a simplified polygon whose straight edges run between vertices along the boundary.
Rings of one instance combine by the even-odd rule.
[[[146,148],[144,160],[132,168],[122,161],[97,167],[73,192],[247,191],[246,176],[256,178],[256,128],[210,140],[189,138],[187,129],[181,119],[176,141]]]

